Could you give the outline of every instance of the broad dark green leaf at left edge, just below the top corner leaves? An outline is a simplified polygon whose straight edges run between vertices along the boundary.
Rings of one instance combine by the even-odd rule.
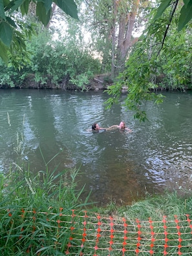
[[[7,47],[10,47],[10,44],[12,42],[12,34],[13,34],[12,27],[10,27],[10,25],[8,25],[8,23],[6,23],[5,21],[1,22],[0,38]]]

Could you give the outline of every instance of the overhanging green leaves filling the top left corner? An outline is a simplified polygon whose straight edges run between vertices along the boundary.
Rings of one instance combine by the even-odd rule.
[[[27,56],[25,41],[34,34],[34,25],[25,23],[25,19],[20,19],[28,15],[30,3],[36,6],[36,17],[47,26],[52,17],[52,4],[56,4],[66,14],[78,19],[77,6],[73,0],[0,0],[0,57],[8,63],[8,59],[17,59],[15,65]],[[19,58],[19,54],[23,58]],[[17,58],[15,58],[17,56]],[[27,59],[25,59],[27,61]]]

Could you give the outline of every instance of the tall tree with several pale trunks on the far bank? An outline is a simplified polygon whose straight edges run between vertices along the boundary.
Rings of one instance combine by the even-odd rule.
[[[133,37],[133,31],[142,3],[140,0],[87,1],[92,41],[101,54],[104,71],[110,63],[112,78],[124,69],[127,52],[138,39]]]

